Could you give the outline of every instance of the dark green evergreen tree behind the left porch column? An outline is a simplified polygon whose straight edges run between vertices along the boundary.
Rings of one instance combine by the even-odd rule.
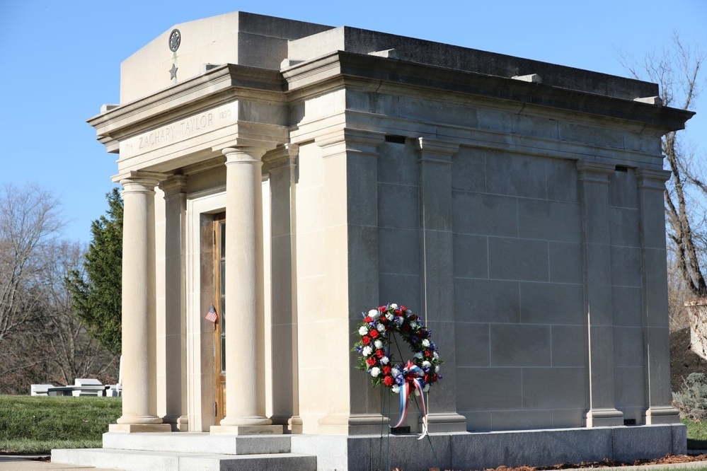
[[[91,223],[85,276],[79,270],[71,270],[66,283],[76,315],[91,337],[120,354],[123,206],[117,188],[105,197],[108,211]]]

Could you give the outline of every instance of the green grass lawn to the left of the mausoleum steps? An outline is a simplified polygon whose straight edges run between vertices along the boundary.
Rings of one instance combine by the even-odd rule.
[[[120,397],[0,395],[0,453],[100,448],[121,406]]]

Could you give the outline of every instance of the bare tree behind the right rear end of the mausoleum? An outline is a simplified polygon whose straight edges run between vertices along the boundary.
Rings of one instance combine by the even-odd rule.
[[[701,74],[707,54],[699,45],[684,45],[677,33],[672,48],[648,54],[643,64],[622,55],[623,66],[636,77],[647,78],[660,86],[662,104],[681,110],[694,110],[695,100],[706,85]],[[669,132],[662,139],[665,165],[670,180],[665,190],[667,233],[677,266],[691,296],[707,298],[705,262],[707,238],[704,198],[707,197],[703,169],[694,165],[694,149],[684,143],[683,134]]]

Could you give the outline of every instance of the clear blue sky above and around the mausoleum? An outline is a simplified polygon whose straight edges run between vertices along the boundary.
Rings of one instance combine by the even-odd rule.
[[[238,10],[624,76],[618,50],[643,59],[669,46],[673,31],[707,47],[705,0],[0,0],[0,185],[52,190],[67,219],[64,237],[88,242],[117,167],[86,120],[118,103],[120,62],[177,23]],[[702,154],[703,95],[702,113],[688,124]]]

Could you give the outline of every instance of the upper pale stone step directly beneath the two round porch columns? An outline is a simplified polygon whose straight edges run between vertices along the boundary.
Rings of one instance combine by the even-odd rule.
[[[208,432],[152,432],[149,434],[103,434],[103,448],[121,450],[263,455],[289,453],[289,435],[214,435]]]

